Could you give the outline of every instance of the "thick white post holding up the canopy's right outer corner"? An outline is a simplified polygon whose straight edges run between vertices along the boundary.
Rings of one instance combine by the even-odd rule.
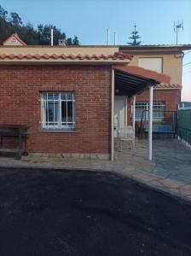
[[[148,127],[148,160],[152,160],[153,136],[153,86],[149,88],[149,127]]]

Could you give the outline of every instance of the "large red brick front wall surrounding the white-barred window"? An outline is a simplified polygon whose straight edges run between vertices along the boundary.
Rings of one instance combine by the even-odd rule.
[[[74,91],[76,131],[42,132],[40,91]],[[109,153],[110,67],[1,66],[0,124],[28,125],[31,153]]]

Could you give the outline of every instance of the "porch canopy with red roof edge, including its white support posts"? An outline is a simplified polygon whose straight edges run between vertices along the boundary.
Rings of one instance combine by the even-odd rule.
[[[152,160],[152,133],[153,133],[153,86],[160,83],[169,84],[170,76],[157,73],[142,67],[113,65],[112,94],[111,94],[111,160],[114,159],[113,113],[114,94],[134,96],[133,100],[133,131],[135,137],[135,98],[136,94],[149,88],[149,130],[148,130],[148,160]]]

